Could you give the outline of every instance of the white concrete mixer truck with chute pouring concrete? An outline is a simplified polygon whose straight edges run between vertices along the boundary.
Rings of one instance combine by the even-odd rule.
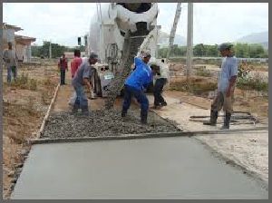
[[[106,96],[111,108],[121,92],[125,78],[131,72],[134,57],[141,51],[156,55],[159,26],[157,3],[97,4],[92,16],[87,53],[98,53],[92,77],[94,91]]]

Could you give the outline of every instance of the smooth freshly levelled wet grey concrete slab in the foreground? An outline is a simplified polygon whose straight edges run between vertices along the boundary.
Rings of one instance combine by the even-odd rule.
[[[268,192],[182,137],[34,145],[12,198],[251,199]]]

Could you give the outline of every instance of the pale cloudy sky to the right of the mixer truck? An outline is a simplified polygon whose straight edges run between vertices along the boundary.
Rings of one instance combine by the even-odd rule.
[[[170,33],[177,4],[159,3],[159,24]],[[181,9],[176,34],[187,35],[187,4]],[[235,41],[251,33],[268,30],[268,4],[260,3],[195,3],[194,43]]]

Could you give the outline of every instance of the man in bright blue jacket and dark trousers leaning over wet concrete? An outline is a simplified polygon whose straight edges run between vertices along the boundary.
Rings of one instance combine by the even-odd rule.
[[[149,100],[144,94],[144,89],[152,82],[152,71],[148,65],[151,54],[141,53],[141,57],[135,57],[136,69],[126,79],[124,84],[124,97],[122,103],[121,117],[125,117],[131,106],[131,98],[134,96],[141,103],[141,123],[147,123]]]

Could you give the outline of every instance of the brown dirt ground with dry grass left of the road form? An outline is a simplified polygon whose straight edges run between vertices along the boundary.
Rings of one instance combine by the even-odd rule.
[[[20,174],[25,156],[30,150],[26,140],[35,137],[53,98],[54,88],[59,82],[56,67],[54,63],[36,68],[24,66],[18,70],[19,82],[11,85],[6,83],[4,68],[4,198],[9,198],[15,178]]]

